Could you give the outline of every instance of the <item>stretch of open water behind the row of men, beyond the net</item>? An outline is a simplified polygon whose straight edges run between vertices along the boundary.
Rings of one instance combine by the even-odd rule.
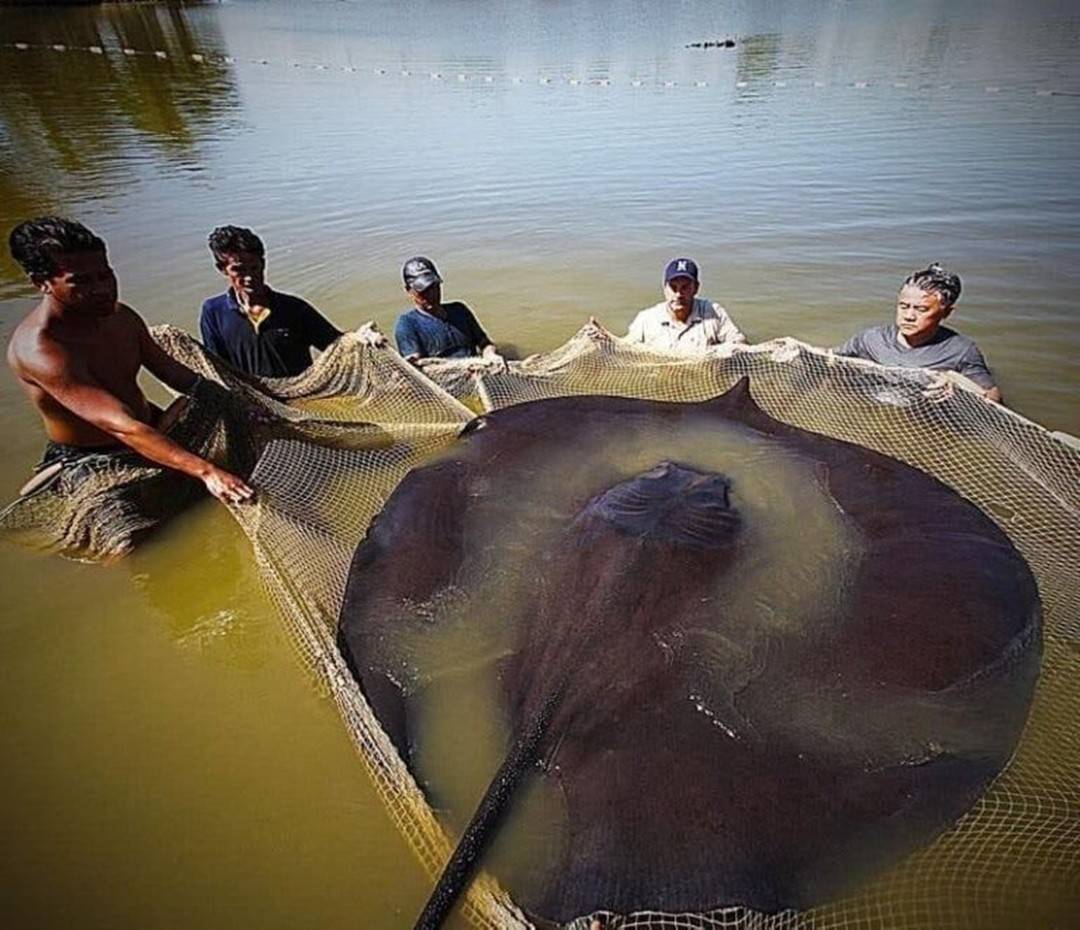
[[[430,254],[523,353],[590,313],[623,332],[675,253],[752,339],[818,345],[937,259],[1007,399],[1080,432],[1080,120],[1049,95],[1080,90],[1067,4],[266,0],[4,27],[70,50],[0,46],[0,220],[78,214],[154,322],[194,328],[220,223],[342,326],[391,331],[401,261]],[[73,51],[97,43],[141,54]],[[4,255],[0,297],[25,293]]]

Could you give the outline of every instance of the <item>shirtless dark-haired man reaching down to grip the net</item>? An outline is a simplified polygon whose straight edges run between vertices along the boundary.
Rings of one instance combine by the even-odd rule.
[[[43,464],[129,446],[198,479],[220,501],[249,500],[254,491],[237,475],[154,429],[159,412],[139,390],[139,368],[180,393],[200,377],[165,354],[143,319],[119,302],[105,242],[80,223],[46,216],[15,227],[9,245],[43,295],[8,346],[8,364],[44,421]]]

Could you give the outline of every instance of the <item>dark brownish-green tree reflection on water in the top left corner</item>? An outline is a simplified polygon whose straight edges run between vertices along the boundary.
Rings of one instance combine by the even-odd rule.
[[[3,17],[5,39],[33,46],[0,55],[5,231],[29,216],[107,198],[135,181],[147,158],[198,169],[199,143],[219,133],[238,105],[228,68],[191,58],[224,53],[219,29],[213,21],[197,27],[184,6],[108,3],[49,16],[5,9]],[[92,46],[102,53],[84,51]],[[6,250],[2,261],[5,277],[17,278]]]

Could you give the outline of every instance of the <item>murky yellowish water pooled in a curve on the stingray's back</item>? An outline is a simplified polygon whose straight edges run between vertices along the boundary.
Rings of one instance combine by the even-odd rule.
[[[671,653],[673,663],[699,665],[688,676],[697,682],[698,700],[707,700],[716,710],[718,726],[733,728],[733,739],[748,737],[758,723],[742,717],[732,699],[761,673],[751,666],[764,663],[767,656],[779,662],[781,643],[791,647],[794,639],[820,635],[843,617],[842,592],[861,544],[810,463],[781,443],[732,423],[658,424],[645,415],[625,413],[619,422],[618,434],[597,423],[588,436],[583,431],[575,434],[579,442],[572,449],[542,444],[528,462],[513,459],[495,474],[486,471],[471,498],[461,534],[462,565],[449,585],[453,593],[441,590],[431,604],[403,605],[384,632],[381,624],[373,624],[380,633],[366,644],[365,656],[374,665],[392,669],[407,695],[415,753],[410,765],[436,809],[459,832],[512,742],[507,692],[512,690],[508,680],[513,680],[514,666],[509,657],[528,642],[530,625],[556,619],[552,605],[566,596],[561,582],[567,567],[559,564],[566,557],[565,540],[575,531],[575,518],[598,493],[664,460],[723,474],[731,482],[732,507],[741,516],[739,541],[732,562],[706,589],[708,607],[696,614],[692,606],[679,605],[684,616],[653,622],[664,638],[678,644]],[[805,544],[807,538],[814,540],[812,548]],[[633,564],[635,553],[636,547],[627,547],[620,555]],[[613,615],[619,620],[602,645],[570,634],[576,643],[572,656],[544,653],[554,661],[538,662],[525,676],[553,680],[558,663],[569,661],[571,668],[579,662],[581,670],[588,669],[586,678],[598,668],[625,687],[639,670],[619,658],[619,628],[633,628],[626,605],[647,597],[626,593],[636,579],[626,577],[618,557],[599,576],[593,575],[596,566],[589,565],[588,554],[577,557],[598,589],[611,585],[612,599],[621,608]],[[372,584],[378,582],[373,579]],[[577,605],[580,629],[603,622],[590,616],[591,606]],[[552,643],[567,634],[548,631]],[[634,641],[634,635],[632,631],[629,639],[635,649],[654,646]],[[691,653],[694,658],[688,659]],[[588,693],[588,686],[584,690]],[[608,726],[604,718],[584,717],[577,723],[602,731]],[[735,729],[743,730],[742,736]],[[455,752],[465,732],[469,752]],[[907,734],[891,732],[891,739],[895,746]],[[511,808],[512,820],[500,828],[487,861],[521,901],[535,901],[538,882],[550,880],[550,864],[558,861],[554,853],[567,840],[558,780],[537,779],[528,796],[515,798]]]

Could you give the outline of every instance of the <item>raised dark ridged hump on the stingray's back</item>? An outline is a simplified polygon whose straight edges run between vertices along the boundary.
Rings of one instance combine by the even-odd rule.
[[[593,498],[582,516],[647,541],[719,549],[739,528],[730,489],[723,474],[662,461]]]

